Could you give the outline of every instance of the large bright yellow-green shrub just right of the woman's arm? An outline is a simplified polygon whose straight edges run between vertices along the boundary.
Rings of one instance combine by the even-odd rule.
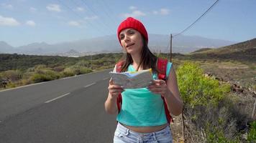
[[[177,70],[178,87],[183,102],[188,107],[197,105],[216,105],[230,92],[228,84],[219,84],[215,79],[204,77],[198,64],[186,62]]]

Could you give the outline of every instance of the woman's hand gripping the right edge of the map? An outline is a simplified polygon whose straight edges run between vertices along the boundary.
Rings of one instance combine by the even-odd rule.
[[[167,84],[164,80],[156,79],[152,81],[152,84],[147,87],[154,94],[160,94],[162,97],[166,97],[169,92]]]

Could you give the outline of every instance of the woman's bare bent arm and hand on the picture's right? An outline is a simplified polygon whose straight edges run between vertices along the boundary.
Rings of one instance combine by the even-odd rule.
[[[180,98],[177,78],[173,67],[170,69],[170,74],[166,83],[161,79],[157,79],[152,82],[149,89],[151,92],[161,94],[165,98],[171,114],[178,116],[182,112],[183,102]]]

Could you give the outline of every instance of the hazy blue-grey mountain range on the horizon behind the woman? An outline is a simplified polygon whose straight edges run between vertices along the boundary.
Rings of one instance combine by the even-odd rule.
[[[163,34],[150,34],[149,47],[153,52],[170,52],[170,36]],[[173,53],[187,54],[202,48],[218,48],[235,44],[236,41],[221,39],[207,39],[201,36],[179,35],[173,39]],[[10,46],[0,41],[0,53],[58,55],[58,56],[84,56],[88,54],[121,52],[121,46],[116,35],[101,36],[92,39],[66,41],[58,44],[45,42],[32,43],[24,46]]]

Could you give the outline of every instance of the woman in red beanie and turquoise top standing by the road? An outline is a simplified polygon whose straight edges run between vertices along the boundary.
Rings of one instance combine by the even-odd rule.
[[[182,112],[183,102],[172,63],[166,68],[166,81],[157,79],[157,57],[147,46],[148,36],[145,26],[132,17],[122,21],[117,36],[125,51],[122,71],[152,69],[150,86],[141,89],[122,89],[109,81],[109,95],[105,102],[106,112],[117,114],[118,122],[114,142],[172,142],[170,127],[165,117],[165,99],[168,110],[173,115]],[[116,71],[116,66],[114,68]],[[122,107],[118,113],[116,98],[122,94]]]

